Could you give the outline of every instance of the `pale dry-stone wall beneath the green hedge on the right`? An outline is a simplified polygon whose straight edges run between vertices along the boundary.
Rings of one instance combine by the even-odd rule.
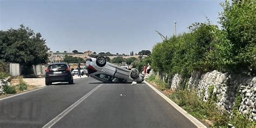
[[[170,83],[172,90],[177,89],[182,80],[178,74],[171,78],[165,73],[160,73],[159,76],[165,82]],[[214,100],[217,105],[229,112],[232,112],[236,98],[241,97],[240,101],[237,100],[240,102],[239,111],[248,115],[251,120],[256,120],[256,77],[214,70],[207,73],[194,72],[186,84],[189,89],[196,89],[198,96],[204,101],[209,97],[210,87],[213,87]]]

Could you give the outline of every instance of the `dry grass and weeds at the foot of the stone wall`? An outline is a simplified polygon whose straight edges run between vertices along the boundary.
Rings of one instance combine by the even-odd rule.
[[[169,90],[169,85],[165,83],[159,76],[151,75],[148,79],[158,89],[165,91],[167,97],[173,100],[177,105],[192,116],[199,118],[212,127],[227,127],[232,124],[235,127],[255,127],[256,123],[251,122],[247,116],[241,114],[238,109],[241,103],[241,97],[238,95],[233,107],[233,113],[221,109],[215,104],[215,97],[213,94],[213,87],[210,86],[208,95],[210,96],[206,102],[197,95],[196,90],[178,89]],[[240,97],[240,98],[239,98]]]

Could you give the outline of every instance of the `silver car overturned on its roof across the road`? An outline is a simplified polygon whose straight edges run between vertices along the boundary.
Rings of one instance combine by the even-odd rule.
[[[88,75],[104,83],[142,83],[144,75],[137,69],[125,69],[106,62],[104,56],[86,59]]]

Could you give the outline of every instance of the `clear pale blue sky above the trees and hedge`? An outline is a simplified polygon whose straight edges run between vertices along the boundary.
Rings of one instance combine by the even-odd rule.
[[[28,26],[51,51],[138,53],[194,22],[218,25],[221,0],[0,0],[0,30]]]

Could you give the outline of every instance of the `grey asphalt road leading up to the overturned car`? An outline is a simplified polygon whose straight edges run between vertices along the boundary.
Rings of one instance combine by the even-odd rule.
[[[90,77],[0,100],[0,127],[196,127],[146,84]]]

